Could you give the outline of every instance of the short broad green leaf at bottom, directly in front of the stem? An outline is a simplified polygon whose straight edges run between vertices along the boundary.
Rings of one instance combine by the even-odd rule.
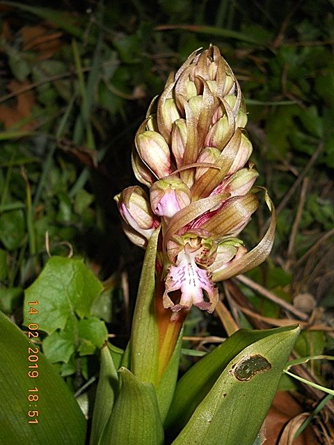
[[[100,445],[163,445],[164,430],[151,383],[120,369],[122,387]]]

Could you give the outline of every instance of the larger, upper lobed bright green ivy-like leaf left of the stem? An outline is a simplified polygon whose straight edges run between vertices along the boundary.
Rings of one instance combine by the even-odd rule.
[[[39,277],[25,291],[24,305],[38,301],[38,314],[24,312],[24,325],[32,321],[52,334],[63,330],[76,314],[90,316],[90,307],[102,291],[102,284],[81,259],[51,257]],[[31,318],[29,320],[29,317]]]

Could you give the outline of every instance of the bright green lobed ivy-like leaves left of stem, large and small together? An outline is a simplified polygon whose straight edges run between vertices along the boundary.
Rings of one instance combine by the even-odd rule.
[[[92,355],[102,348],[108,331],[100,318],[91,315],[102,284],[81,259],[51,257],[39,277],[25,291],[24,305],[38,301],[38,313],[24,312],[24,324],[38,323],[47,332],[43,351],[51,363],[62,363],[68,375],[71,357]],[[74,373],[75,367],[72,370]]]

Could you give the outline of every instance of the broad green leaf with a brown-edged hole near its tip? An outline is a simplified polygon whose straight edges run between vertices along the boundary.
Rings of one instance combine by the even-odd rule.
[[[173,445],[252,445],[299,334],[292,326],[255,341],[225,367]]]

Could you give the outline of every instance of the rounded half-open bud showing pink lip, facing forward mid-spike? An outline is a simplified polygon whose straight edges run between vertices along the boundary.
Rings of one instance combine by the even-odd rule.
[[[150,188],[150,200],[156,215],[172,218],[177,211],[189,206],[191,192],[181,179],[167,177],[154,182]]]

